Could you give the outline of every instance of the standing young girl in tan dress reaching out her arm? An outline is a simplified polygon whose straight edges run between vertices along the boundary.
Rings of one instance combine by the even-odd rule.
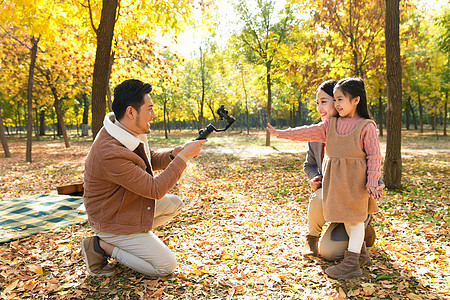
[[[338,118],[316,125],[268,130],[279,138],[326,143],[323,160],[323,213],[326,221],[344,223],[349,235],[344,260],[325,270],[338,279],[359,277],[360,265],[370,261],[364,242],[364,220],[378,212],[375,201],[381,176],[381,153],[375,123],[367,109],[364,82],[340,80],[334,88]]]

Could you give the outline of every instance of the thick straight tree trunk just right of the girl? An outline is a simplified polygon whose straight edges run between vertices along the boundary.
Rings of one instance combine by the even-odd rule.
[[[385,0],[385,40],[387,76],[387,137],[384,182],[388,188],[400,188],[402,178],[402,66],[400,62],[399,0]]]

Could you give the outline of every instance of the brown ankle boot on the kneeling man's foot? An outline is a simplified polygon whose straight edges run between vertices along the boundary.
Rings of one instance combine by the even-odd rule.
[[[86,269],[91,276],[111,276],[114,274],[114,267],[108,264],[106,255],[95,250],[101,249],[98,244],[99,237],[91,236],[81,241]]]

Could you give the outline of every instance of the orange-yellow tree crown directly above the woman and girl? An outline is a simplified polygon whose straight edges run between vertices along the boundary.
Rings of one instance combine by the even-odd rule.
[[[383,31],[381,0],[297,0],[309,10],[311,21],[327,35],[328,54],[351,76],[366,77],[368,69],[382,63]],[[347,75],[348,76],[348,75]]]

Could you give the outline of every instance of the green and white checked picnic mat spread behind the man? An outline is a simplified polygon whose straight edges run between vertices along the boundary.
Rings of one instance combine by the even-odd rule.
[[[0,201],[0,244],[86,220],[83,197],[37,194]]]

